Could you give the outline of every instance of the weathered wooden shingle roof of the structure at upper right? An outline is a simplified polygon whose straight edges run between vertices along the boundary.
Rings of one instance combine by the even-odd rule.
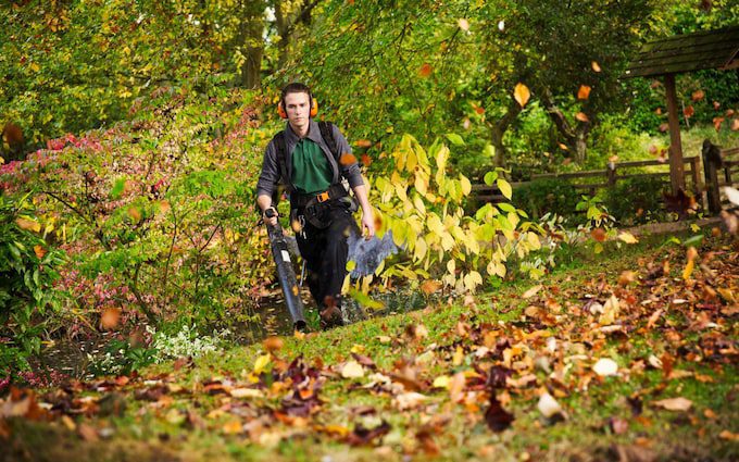
[[[624,76],[653,77],[703,68],[739,68],[739,26],[644,43]]]

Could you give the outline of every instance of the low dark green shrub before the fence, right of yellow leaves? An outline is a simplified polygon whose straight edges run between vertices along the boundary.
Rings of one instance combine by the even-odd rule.
[[[575,187],[563,179],[535,179],[518,187],[513,193],[513,204],[539,218],[547,213],[572,217],[579,195]]]

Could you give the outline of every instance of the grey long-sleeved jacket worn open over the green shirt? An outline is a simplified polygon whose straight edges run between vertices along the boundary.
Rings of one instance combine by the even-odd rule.
[[[333,125],[333,128],[334,139],[336,140],[336,147],[339,150],[339,152],[341,152],[341,154],[351,153],[351,147],[347,142],[347,139],[343,137],[341,132],[336,127],[336,125]],[[336,159],[334,159],[334,154],[331,154],[330,150],[328,149],[328,145],[326,145],[326,141],[324,141],[323,137],[321,136],[321,128],[318,127],[318,123],[312,118],[310,121],[308,138],[317,143],[321,147],[321,150],[324,152],[324,154],[326,154],[326,159],[328,159],[328,163],[330,164],[331,171],[334,172],[334,178],[331,180],[331,184],[339,183],[341,180],[341,177],[347,178],[347,180],[349,182],[349,186],[351,188],[364,184],[364,182],[362,180],[362,174],[360,173],[360,166],[356,162],[352,162],[349,165],[338,165]],[[300,138],[298,138],[298,135],[296,135],[295,132],[292,132],[292,128],[290,128],[290,124],[286,123],[285,147],[287,149],[286,152],[287,174],[290,177],[291,185],[292,185],[292,152],[295,151],[299,140]],[[275,141],[273,139],[267,145],[266,151],[264,151],[262,173],[259,177],[259,182],[256,182],[256,196],[258,197],[261,195],[272,196],[272,192],[275,190],[275,186],[279,182],[279,176],[280,176],[279,165],[277,164],[277,147],[275,146]]]

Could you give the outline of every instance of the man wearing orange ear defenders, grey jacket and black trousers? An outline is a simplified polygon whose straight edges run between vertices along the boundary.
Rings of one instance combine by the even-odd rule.
[[[362,208],[362,234],[371,238],[375,228],[367,188],[341,132],[333,124],[320,125],[312,118],[317,103],[308,86],[293,83],[285,87],[278,109],[287,124],[264,152],[256,203],[265,223],[275,225],[272,198],[281,177],[290,196],[290,223],[309,271],[308,285],[318,305],[321,324],[324,328],[340,325],[347,237],[356,228],[352,217],[356,207],[342,178]],[[334,152],[329,145],[334,145]]]

